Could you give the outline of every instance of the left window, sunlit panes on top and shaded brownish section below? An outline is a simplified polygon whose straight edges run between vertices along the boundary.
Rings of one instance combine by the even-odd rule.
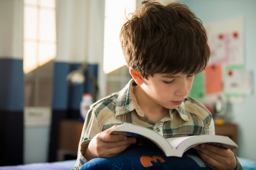
[[[55,0],[24,0],[25,106],[51,106]]]

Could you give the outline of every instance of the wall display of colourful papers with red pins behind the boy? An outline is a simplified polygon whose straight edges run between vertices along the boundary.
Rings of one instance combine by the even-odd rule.
[[[197,99],[241,99],[252,93],[252,73],[245,68],[244,19],[233,18],[207,24],[210,59],[194,77],[190,96]]]

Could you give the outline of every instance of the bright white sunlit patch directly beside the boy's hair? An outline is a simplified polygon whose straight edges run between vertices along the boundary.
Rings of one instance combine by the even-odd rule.
[[[136,0],[105,0],[104,24],[104,57],[103,71],[105,74],[126,64],[119,33],[128,15],[136,8]]]

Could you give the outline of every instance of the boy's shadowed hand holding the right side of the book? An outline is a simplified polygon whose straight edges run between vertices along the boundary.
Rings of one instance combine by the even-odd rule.
[[[236,158],[230,149],[209,144],[197,145],[193,149],[211,169],[234,170],[236,168]]]

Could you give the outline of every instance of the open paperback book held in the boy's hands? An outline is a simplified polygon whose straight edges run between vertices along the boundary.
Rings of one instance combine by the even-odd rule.
[[[165,139],[160,134],[154,132],[151,129],[136,126],[131,123],[124,123],[120,125],[112,132],[110,132],[110,134],[132,136],[135,137],[137,139],[137,142],[139,143],[141,143],[141,141],[143,140],[144,143],[148,143],[150,140],[155,143],[160,149],[162,149],[166,156],[182,157],[185,151],[192,148],[193,146],[203,143],[216,145],[225,149],[238,148],[237,144],[226,136],[198,135]]]

